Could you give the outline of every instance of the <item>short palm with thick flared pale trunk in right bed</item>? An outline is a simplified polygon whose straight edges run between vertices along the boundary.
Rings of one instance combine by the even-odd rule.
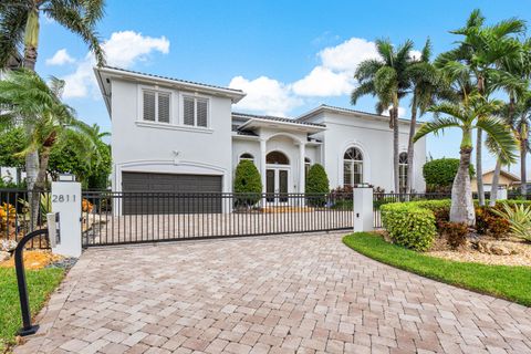
[[[446,128],[457,127],[462,132],[459,169],[451,187],[450,221],[473,225],[476,221],[472,194],[470,189],[470,157],[472,153],[472,131],[483,129],[493,140],[503,159],[512,160],[516,142],[506,124],[492,114],[500,110],[501,101],[487,100],[478,92],[466,96],[461,103],[444,102],[429,108],[435,117],[425,123],[415,142],[427,134],[438,134]],[[445,114],[447,116],[440,116]]]

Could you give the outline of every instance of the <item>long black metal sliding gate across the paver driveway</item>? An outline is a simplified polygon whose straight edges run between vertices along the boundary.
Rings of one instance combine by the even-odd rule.
[[[83,244],[353,228],[352,194],[83,192]]]

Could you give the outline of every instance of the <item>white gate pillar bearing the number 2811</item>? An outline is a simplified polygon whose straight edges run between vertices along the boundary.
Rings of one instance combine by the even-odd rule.
[[[52,211],[59,212],[60,243],[52,251],[66,257],[81,256],[81,184],[52,183]]]

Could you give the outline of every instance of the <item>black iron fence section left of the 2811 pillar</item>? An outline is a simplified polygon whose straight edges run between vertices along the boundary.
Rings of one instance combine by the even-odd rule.
[[[37,210],[30,212],[30,202],[34,200]],[[49,191],[21,189],[0,189],[0,241],[13,240],[19,242],[32,229],[46,227],[46,214],[51,212],[51,197]],[[49,248],[48,239],[33,238],[29,248]]]

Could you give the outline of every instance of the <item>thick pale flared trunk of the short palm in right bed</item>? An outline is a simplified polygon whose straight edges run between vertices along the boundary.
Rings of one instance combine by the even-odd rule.
[[[461,147],[459,169],[451,187],[450,221],[452,222],[476,223],[469,174],[471,153],[471,147]]]

